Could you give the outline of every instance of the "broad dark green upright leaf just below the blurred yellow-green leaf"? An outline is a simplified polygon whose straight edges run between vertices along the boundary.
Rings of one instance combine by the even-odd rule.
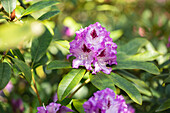
[[[51,33],[46,29],[45,33],[42,34],[39,38],[36,38],[32,42],[31,46],[31,56],[33,64],[38,62],[43,55],[46,53],[48,46],[52,40]]]

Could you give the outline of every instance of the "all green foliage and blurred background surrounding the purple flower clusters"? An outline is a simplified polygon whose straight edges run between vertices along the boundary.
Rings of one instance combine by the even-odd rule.
[[[83,112],[95,91],[109,87],[136,113],[170,112],[169,12],[168,0],[1,0],[0,111],[15,111],[12,100],[22,99],[23,112],[35,113],[57,92],[58,103]],[[75,31],[95,22],[118,45],[110,75],[72,69],[73,57],[66,59]]]

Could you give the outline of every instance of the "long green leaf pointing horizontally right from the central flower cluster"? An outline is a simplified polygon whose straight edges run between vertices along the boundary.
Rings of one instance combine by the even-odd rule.
[[[150,62],[142,61],[117,61],[117,65],[113,69],[142,69],[149,73],[158,75],[160,74],[157,66]]]

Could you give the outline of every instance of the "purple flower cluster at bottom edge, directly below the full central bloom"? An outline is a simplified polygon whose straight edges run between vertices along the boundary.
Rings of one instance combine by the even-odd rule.
[[[123,96],[116,96],[109,88],[94,93],[83,107],[86,113],[131,113]]]

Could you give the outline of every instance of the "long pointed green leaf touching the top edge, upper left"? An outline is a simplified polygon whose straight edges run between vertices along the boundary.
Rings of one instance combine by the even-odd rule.
[[[45,1],[36,2],[35,4],[28,7],[23,12],[22,16],[31,14],[33,12],[39,11],[39,10],[47,8],[47,7],[50,7],[50,6],[55,5],[57,3],[58,3],[58,1],[54,1],[54,0],[50,0],[50,1],[45,0]]]

